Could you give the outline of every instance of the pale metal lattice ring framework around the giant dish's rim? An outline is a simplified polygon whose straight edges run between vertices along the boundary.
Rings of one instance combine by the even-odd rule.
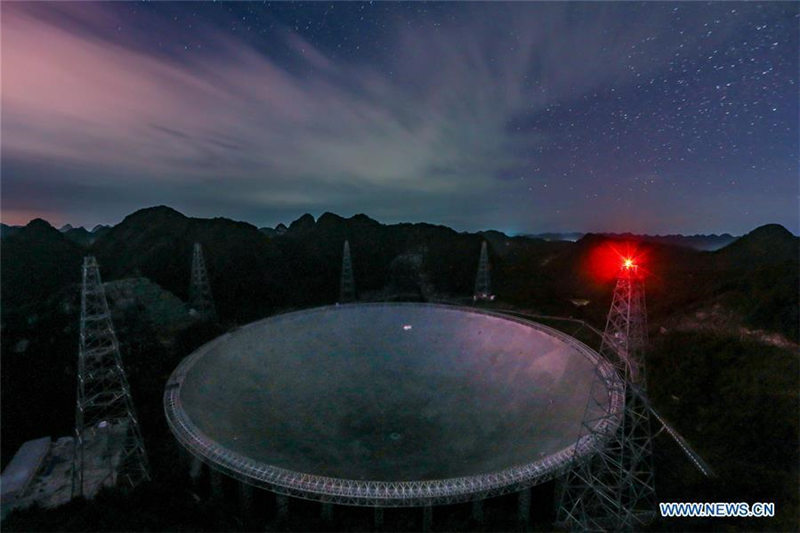
[[[359,305],[381,306],[386,304]],[[391,305],[418,304],[394,303]],[[606,394],[605,402],[607,405],[604,408],[608,412],[616,413],[617,417],[616,419],[610,417],[599,420],[598,424],[611,425],[613,427],[593,428],[593,432],[583,435],[574,444],[538,461],[475,476],[419,481],[370,481],[295,472],[253,460],[222,446],[204,434],[187,416],[181,402],[181,385],[197,360],[209,350],[212,350],[218,342],[224,342],[226,340],[225,337],[220,337],[202,346],[195,353],[184,359],[170,376],[164,392],[164,410],[167,424],[177,440],[195,457],[207,463],[210,467],[245,483],[266,488],[278,494],[344,505],[417,507],[479,500],[518,492],[533,485],[563,476],[570,468],[574,458],[588,457],[597,452],[602,445],[597,440],[598,434],[613,431],[616,427],[615,425],[619,423],[623,408],[623,397],[617,392],[622,390],[622,386],[617,384],[619,377],[611,365],[599,357],[597,352],[583,343],[556,329],[522,318],[509,317],[488,311],[476,311],[474,308],[468,307],[439,304],[426,305],[447,309],[455,308],[470,313],[487,314],[519,322],[546,331],[549,335],[568,343],[594,363],[596,370],[604,376],[605,382],[611,384],[612,389]],[[332,308],[322,307],[315,311],[324,312],[330,309]]]

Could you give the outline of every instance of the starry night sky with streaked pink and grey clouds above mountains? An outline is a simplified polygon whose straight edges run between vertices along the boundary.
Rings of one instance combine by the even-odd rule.
[[[782,3],[2,4],[2,219],[797,234]]]

